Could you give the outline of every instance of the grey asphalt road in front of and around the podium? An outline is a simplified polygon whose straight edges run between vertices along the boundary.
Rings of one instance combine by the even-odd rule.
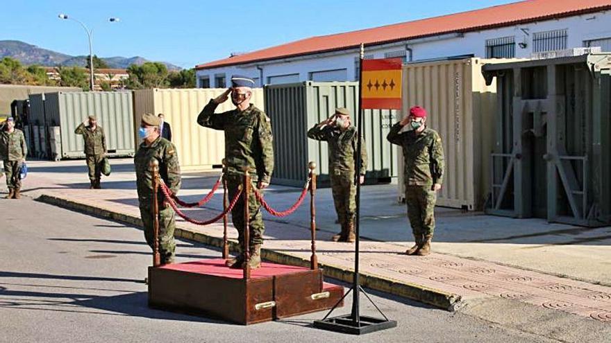
[[[246,327],[151,310],[142,231],[27,199],[0,209],[0,342],[557,342],[385,294],[373,298],[399,327],[361,337],[311,328],[324,313]]]

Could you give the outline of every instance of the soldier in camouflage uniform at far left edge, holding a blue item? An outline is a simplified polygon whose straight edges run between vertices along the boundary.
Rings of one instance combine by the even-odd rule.
[[[22,180],[19,178],[19,173],[22,164],[26,161],[26,155],[28,155],[28,147],[24,133],[15,128],[13,118],[7,118],[3,127],[0,127],[0,159],[3,160],[6,186],[8,186],[8,195],[5,199],[21,198]]]

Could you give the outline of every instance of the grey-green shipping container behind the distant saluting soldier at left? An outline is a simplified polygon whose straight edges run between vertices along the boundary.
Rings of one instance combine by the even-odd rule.
[[[110,157],[133,156],[134,124],[131,91],[57,92],[30,96],[30,112],[42,130],[40,153],[50,159],[85,157],[83,137],[74,130],[87,116],[97,117]],[[59,136],[56,130],[59,127]],[[53,137],[51,137],[53,136]],[[53,138],[53,141],[51,141]],[[53,149],[51,148],[53,143]]]

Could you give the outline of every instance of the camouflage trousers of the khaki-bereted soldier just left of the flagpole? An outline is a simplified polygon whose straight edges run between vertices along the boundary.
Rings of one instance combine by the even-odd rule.
[[[337,220],[344,227],[349,220],[354,218],[356,212],[356,185],[354,174],[330,175],[333,203]]]

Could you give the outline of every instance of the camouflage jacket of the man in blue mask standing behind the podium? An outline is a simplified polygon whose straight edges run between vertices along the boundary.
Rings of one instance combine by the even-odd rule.
[[[150,202],[153,198],[153,173],[151,162],[159,161],[159,175],[176,194],[181,188],[181,166],[178,164],[176,147],[165,138],[159,137],[150,146],[141,143],[134,156],[136,170],[136,187],[140,204]],[[161,191],[159,199],[162,199]]]

